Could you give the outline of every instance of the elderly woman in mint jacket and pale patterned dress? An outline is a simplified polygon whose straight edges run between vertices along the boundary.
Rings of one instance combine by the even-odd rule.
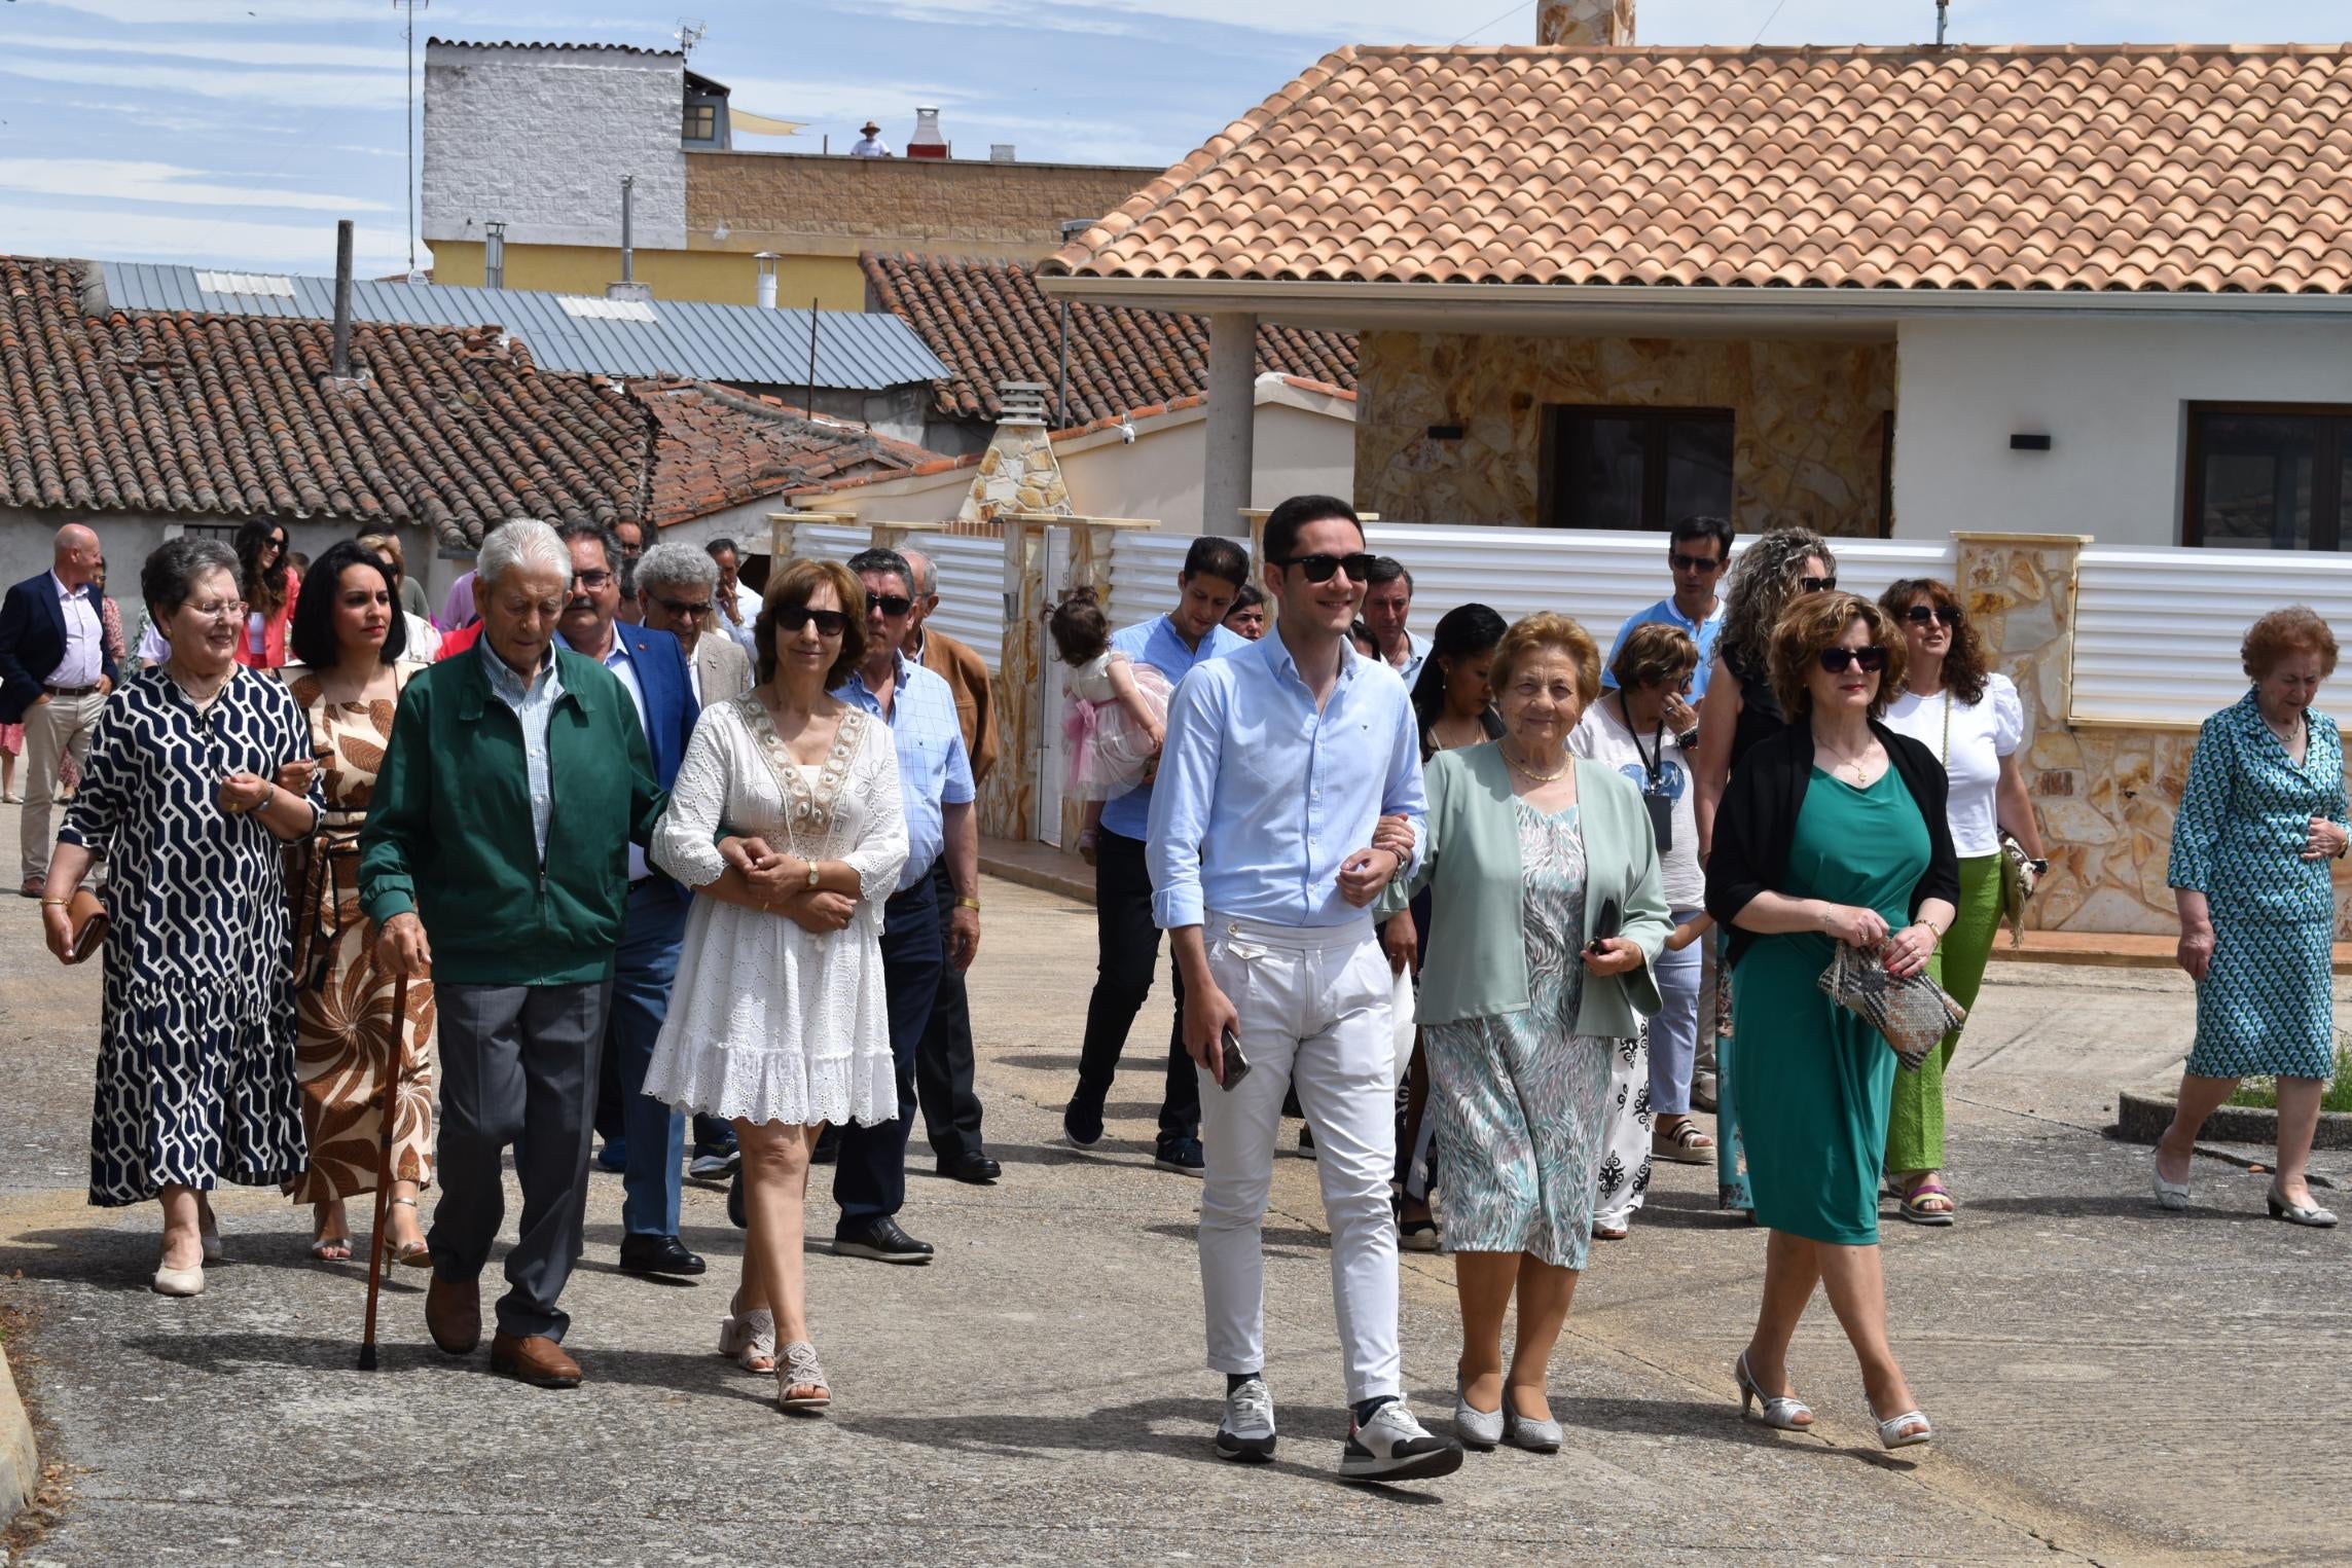
[[[1529,616],[1496,646],[1489,686],[1503,736],[1430,762],[1421,865],[1388,898],[1432,889],[1418,1018],[1463,1305],[1454,1425],[1472,1448],[1550,1453],[1543,1373],[1592,1239],[1609,1063],[1637,1013],[1658,1011],[1653,964],[1675,926],[1639,792],[1569,755],[1602,689],[1592,637]]]

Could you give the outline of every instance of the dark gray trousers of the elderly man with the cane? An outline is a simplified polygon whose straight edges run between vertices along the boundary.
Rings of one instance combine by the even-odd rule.
[[[588,1206],[597,1053],[612,980],[595,985],[435,985],[442,1124],[433,1272],[482,1274],[506,1220],[501,1154],[515,1147],[522,1237],[506,1255],[499,1333],[562,1340],[555,1298],[572,1279]]]

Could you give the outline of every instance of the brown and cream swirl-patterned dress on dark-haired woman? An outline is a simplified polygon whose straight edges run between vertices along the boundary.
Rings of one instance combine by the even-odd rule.
[[[407,686],[426,665],[402,661]],[[294,889],[294,1077],[310,1138],[310,1168],[287,1182],[299,1204],[376,1190],[379,1107],[393,978],[369,961],[360,917],[360,827],[393,736],[395,701],[327,703],[303,665],[280,670],[310,724],[322,759],[327,816],[289,865]],[[393,1105],[393,1178],[433,1180],[433,983],[409,980],[400,1027],[400,1093]]]

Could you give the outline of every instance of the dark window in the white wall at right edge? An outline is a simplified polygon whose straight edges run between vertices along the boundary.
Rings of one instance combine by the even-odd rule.
[[[2352,536],[2352,407],[2190,404],[2180,543],[2343,550]]]

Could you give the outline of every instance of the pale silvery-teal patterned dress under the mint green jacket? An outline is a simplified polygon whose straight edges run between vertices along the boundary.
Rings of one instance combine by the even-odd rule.
[[[1585,837],[1576,806],[1543,813],[1524,799],[1526,985],[1531,1006],[1430,1025],[1430,1110],[1449,1253],[1534,1253],[1585,1267],[1592,1175],[1618,1044],[1576,1034],[1585,994]]]

